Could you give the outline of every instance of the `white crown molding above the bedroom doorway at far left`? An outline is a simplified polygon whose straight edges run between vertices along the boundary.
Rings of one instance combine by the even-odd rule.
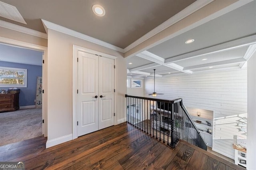
[[[31,36],[36,36],[36,37],[40,37],[40,38],[44,38],[44,39],[48,38],[47,34],[45,34],[43,32],[39,32],[39,31],[36,31],[36,30],[32,30],[30,28],[18,26],[16,24],[12,24],[10,22],[6,22],[6,21],[3,21],[3,20],[0,20],[0,27],[7,28],[9,30],[22,32],[22,33],[25,33],[25,34],[28,34],[28,35],[31,35]]]

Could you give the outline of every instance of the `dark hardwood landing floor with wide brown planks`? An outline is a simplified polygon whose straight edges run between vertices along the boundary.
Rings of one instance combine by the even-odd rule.
[[[45,148],[43,136],[0,147],[0,162],[26,169],[244,170],[186,142],[173,150],[127,123]]]

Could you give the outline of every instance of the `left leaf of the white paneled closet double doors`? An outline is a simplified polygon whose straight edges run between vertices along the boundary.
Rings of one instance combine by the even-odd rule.
[[[78,136],[98,130],[98,56],[78,51]]]

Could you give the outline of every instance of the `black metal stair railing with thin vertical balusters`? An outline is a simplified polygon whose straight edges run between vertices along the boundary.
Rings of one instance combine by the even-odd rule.
[[[207,144],[188,114],[182,99],[164,100],[149,97],[125,95],[127,122],[175,148],[184,140],[207,150]]]

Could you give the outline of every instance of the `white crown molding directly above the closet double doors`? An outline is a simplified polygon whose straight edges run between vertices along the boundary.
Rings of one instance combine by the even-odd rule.
[[[124,53],[124,49],[122,49],[120,47],[117,47],[115,45],[112,45],[110,43],[106,43],[106,42],[104,42],[102,40],[98,40],[96,38],[93,38],[93,37],[87,36],[85,34],[82,34],[80,32],[76,32],[76,31],[71,30],[69,28],[66,28],[66,27],[54,24],[52,22],[49,22],[49,21],[46,21],[46,20],[43,20],[43,19],[41,19],[41,20],[42,20],[42,23],[44,24],[44,28],[45,28],[46,32],[48,32],[48,29],[51,29],[51,30],[54,30],[54,31],[57,31],[57,32],[61,32],[63,34],[67,34],[69,36],[80,38],[82,40],[85,40],[85,41],[88,41],[88,42],[92,42],[92,43],[101,45],[103,47],[107,47],[107,48],[119,51],[121,53]]]

